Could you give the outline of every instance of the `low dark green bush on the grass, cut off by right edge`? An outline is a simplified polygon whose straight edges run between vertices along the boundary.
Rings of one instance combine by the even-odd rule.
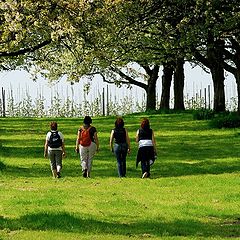
[[[218,114],[209,124],[214,128],[238,128],[240,127],[240,116],[238,113]]]

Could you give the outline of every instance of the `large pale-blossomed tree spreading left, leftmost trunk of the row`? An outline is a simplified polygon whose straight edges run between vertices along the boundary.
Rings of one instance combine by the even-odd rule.
[[[39,72],[50,80],[67,75],[69,81],[74,82],[81,76],[113,69],[120,73],[128,63],[136,62],[145,69],[147,84],[138,84],[136,79],[129,82],[126,74],[119,76],[126,77],[122,83],[143,87],[147,93],[147,109],[155,109],[157,70],[163,60],[161,51],[166,48],[163,46],[166,39],[163,41],[161,34],[168,31],[159,19],[162,5],[169,14],[165,1],[72,0],[36,6],[32,1],[3,3],[2,13],[7,9],[10,17],[5,12],[2,14],[7,47],[3,44],[0,56],[9,60],[4,59],[2,69],[21,66],[32,71],[35,67],[34,74]],[[8,18],[11,21],[7,21]],[[11,31],[10,22],[18,26],[16,32],[27,31],[18,36],[15,30]],[[8,43],[15,47],[9,47]],[[160,46],[157,50],[152,47],[156,45]]]

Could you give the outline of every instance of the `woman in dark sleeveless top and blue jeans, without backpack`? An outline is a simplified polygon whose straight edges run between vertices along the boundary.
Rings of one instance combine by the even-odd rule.
[[[117,158],[118,176],[126,177],[126,157],[127,153],[130,153],[130,139],[124,128],[124,121],[120,117],[116,119],[115,128],[111,131],[110,149]]]

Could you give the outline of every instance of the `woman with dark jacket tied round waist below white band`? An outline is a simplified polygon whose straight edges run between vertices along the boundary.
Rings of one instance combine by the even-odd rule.
[[[137,130],[136,142],[138,143],[136,167],[141,162],[142,178],[148,178],[150,177],[150,166],[155,161],[157,151],[154,132],[150,128],[147,118],[143,118],[141,127]]]

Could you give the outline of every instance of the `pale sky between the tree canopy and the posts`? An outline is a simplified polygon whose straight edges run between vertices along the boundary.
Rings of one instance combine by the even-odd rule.
[[[160,101],[161,93],[161,77],[162,70],[159,73],[159,80],[157,82],[157,95]],[[51,96],[58,92],[61,98],[66,98],[70,96],[76,101],[81,102],[83,100],[83,88],[84,84],[87,83],[86,80],[81,80],[79,83],[75,83],[73,86],[66,80],[62,79],[58,83],[51,85],[45,79],[38,79],[33,81],[29,73],[25,71],[9,71],[0,73],[0,88],[2,87],[7,94],[12,90],[14,99],[18,102],[26,95],[26,92],[34,99],[39,94],[44,96],[44,98],[50,101]],[[138,98],[142,100],[144,98],[144,91],[136,86],[132,89],[127,89],[126,87],[118,88],[113,84],[107,84],[100,78],[95,78],[92,82],[89,94],[86,96],[87,100],[91,101],[96,98],[99,94],[102,94],[103,88],[107,89],[112,97],[117,97],[118,99],[124,96],[132,96],[133,98]],[[200,91],[204,92],[204,88],[208,89],[210,86],[210,94],[213,96],[213,85],[211,80],[211,75],[206,73],[200,67],[192,68],[188,63],[185,64],[185,88],[184,95],[188,98],[196,97],[196,94],[200,95]],[[173,97],[173,91],[171,91]],[[233,76],[231,74],[226,75],[225,80],[225,93],[226,99],[230,100],[231,97],[236,97],[236,84]]]

